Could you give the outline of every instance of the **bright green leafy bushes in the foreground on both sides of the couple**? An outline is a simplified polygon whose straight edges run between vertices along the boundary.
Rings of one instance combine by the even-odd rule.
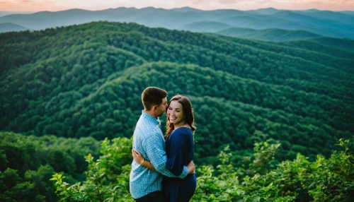
[[[131,139],[103,142],[103,155],[86,156],[86,182],[67,184],[62,174],[54,174],[60,201],[133,201],[129,194]],[[192,201],[353,201],[354,155],[349,140],[341,139],[331,157],[321,155],[309,162],[297,154],[295,160],[276,165],[279,143],[256,143],[252,158],[244,166],[233,167],[229,147],[219,153],[219,165],[198,167],[198,187]],[[113,163],[114,162],[114,163]],[[119,168],[120,165],[124,165]]]

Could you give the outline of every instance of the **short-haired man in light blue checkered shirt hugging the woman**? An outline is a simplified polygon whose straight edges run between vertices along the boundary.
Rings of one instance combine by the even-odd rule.
[[[159,120],[167,107],[166,97],[166,90],[156,87],[146,88],[142,93],[144,110],[135,127],[133,148],[139,151],[145,160],[151,162],[156,171],[149,170],[133,160],[130,172],[130,194],[135,201],[164,201],[161,174],[183,179],[195,170],[193,162],[183,167],[180,176],[173,175],[166,168],[166,147]]]

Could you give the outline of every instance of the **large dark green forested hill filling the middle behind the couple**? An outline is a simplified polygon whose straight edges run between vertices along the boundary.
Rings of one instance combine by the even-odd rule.
[[[282,159],[314,159],[354,133],[353,58],[108,22],[3,33],[0,47],[2,131],[129,138],[154,85],[191,98],[196,162],[268,138]]]

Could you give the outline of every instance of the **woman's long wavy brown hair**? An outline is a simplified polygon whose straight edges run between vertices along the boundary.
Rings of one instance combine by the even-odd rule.
[[[167,106],[166,108],[166,115],[167,115],[167,110],[170,107],[170,104],[172,101],[177,101],[179,103],[181,103],[182,108],[183,108],[183,114],[185,116],[185,123],[188,124],[190,126],[190,128],[192,129],[193,135],[194,135],[194,131],[195,129],[197,129],[195,127],[195,123],[194,123],[194,113],[193,113],[193,106],[192,103],[190,103],[190,100],[188,99],[188,97],[185,97],[183,95],[175,95],[171,98],[171,100],[169,101],[169,106]],[[172,124],[170,122],[169,117],[167,117],[167,123],[166,123],[166,134],[164,136],[164,138],[168,138],[170,133],[175,129],[174,124]]]

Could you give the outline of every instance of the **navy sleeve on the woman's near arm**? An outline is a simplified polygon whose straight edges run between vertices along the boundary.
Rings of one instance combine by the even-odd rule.
[[[171,147],[169,156],[167,157],[166,167],[175,175],[179,175],[183,172],[183,154],[186,140],[187,136],[184,131],[175,132],[171,136]]]

